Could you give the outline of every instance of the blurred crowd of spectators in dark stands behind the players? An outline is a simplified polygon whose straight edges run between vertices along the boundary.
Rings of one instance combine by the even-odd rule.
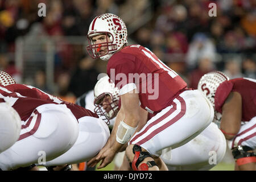
[[[42,2],[45,17],[38,16]],[[211,17],[212,2],[217,16]],[[145,17],[148,12],[150,19]],[[54,36],[57,90],[47,87],[42,68],[36,67],[32,85],[60,96],[81,96],[106,71],[106,63],[90,59],[84,45],[69,44],[65,38],[86,36],[90,22],[103,13],[121,17],[129,40],[150,48],[191,88],[197,88],[200,77],[214,69],[230,78],[256,78],[254,0],[0,0],[0,69],[23,83],[26,73],[15,67],[16,40],[26,36],[27,42],[41,43],[28,46],[32,52],[46,49],[45,37]],[[31,57],[24,59],[46,59],[46,55]]]

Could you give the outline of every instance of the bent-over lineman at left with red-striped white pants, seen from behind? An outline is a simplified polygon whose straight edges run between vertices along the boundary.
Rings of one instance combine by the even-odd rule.
[[[76,142],[78,125],[67,106],[13,92],[7,86],[15,85],[15,81],[2,76],[6,74],[3,73],[0,104],[13,107],[19,115],[21,128],[18,140],[0,154],[0,169],[17,169],[38,163],[39,152],[46,154],[45,160],[52,160],[68,151]],[[15,117],[15,113],[1,113],[1,118],[6,114]]]

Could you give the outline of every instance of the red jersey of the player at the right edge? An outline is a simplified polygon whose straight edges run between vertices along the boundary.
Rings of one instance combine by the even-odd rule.
[[[238,92],[242,96],[242,121],[250,121],[256,116],[256,80],[235,78],[222,82],[214,97],[215,109],[219,113],[222,113],[222,106],[230,92]]]

